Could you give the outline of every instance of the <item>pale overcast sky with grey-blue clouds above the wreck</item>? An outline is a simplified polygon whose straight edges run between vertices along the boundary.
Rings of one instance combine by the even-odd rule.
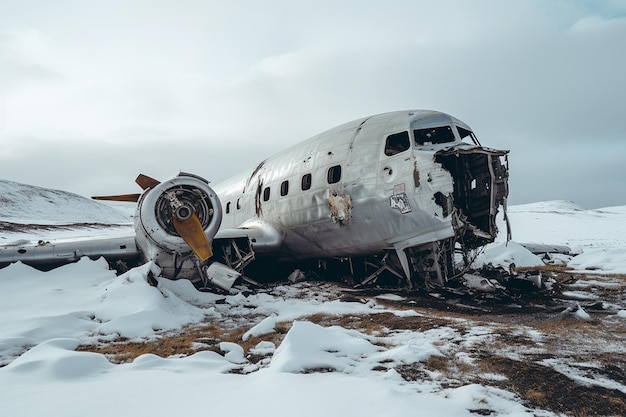
[[[0,2],[0,178],[219,182],[362,116],[510,149],[510,203],[626,204],[626,0]]]

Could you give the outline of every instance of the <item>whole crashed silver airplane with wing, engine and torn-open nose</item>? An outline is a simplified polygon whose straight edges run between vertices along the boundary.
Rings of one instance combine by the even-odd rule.
[[[162,277],[229,290],[268,263],[300,263],[356,286],[445,286],[459,275],[455,255],[467,263],[496,237],[500,209],[506,219],[507,154],[441,112],[365,117],[213,187],[140,175],[141,194],[94,197],[137,201],[134,236],[5,245],[0,264],[152,261]]]

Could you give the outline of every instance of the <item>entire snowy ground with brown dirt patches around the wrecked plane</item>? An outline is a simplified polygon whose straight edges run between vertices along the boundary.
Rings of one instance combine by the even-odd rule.
[[[128,230],[128,211],[103,210],[73,226],[62,212],[3,213],[0,244]],[[553,273],[556,299],[474,304],[317,282],[224,296],[152,287],[152,265],[121,276],[102,260],[11,265],[0,270],[0,415],[624,415],[626,207],[510,215],[516,241],[581,252],[561,260],[575,272]],[[481,256],[537,259],[511,243]]]

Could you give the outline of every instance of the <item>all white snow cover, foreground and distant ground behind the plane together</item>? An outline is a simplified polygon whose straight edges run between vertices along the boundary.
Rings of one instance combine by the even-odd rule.
[[[6,196],[8,190],[2,190]],[[43,198],[55,201],[49,194]],[[67,203],[66,195],[60,198],[75,204],[73,199]],[[3,206],[0,219],[58,225],[77,222],[74,216],[80,214],[78,222],[130,227],[129,211],[111,211],[110,206],[93,217],[87,214],[91,207],[83,206],[52,214],[43,210],[36,218],[29,217],[24,213],[32,213],[32,201]],[[16,214],[18,208],[22,214]],[[624,278],[602,273],[626,274],[626,207],[582,210],[572,203],[546,202],[511,207],[510,218],[515,241],[569,245],[581,252],[566,259],[570,266],[599,274],[571,288],[572,296],[578,292],[584,298],[591,293],[582,290],[589,287],[613,285],[621,291],[602,317],[622,329],[622,339],[607,339],[597,349],[605,355],[625,355]],[[83,226],[65,232],[85,230]],[[58,232],[7,229],[0,234],[0,244]],[[491,245],[481,260],[518,266],[541,262],[522,246],[502,241]],[[478,361],[474,352],[485,346],[507,359],[529,354],[522,351],[526,347],[519,351],[515,346],[498,347],[500,334],[523,339],[532,349],[545,352],[551,349],[552,336],[541,329],[519,324],[514,331],[503,330],[500,325],[462,317],[439,324],[442,313],[433,315],[410,303],[395,306],[394,302],[406,301],[404,297],[346,299],[332,284],[323,283],[278,285],[229,296],[198,292],[187,281],[160,279],[159,286],[152,287],[146,281],[151,268],[158,273],[147,264],[116,276],[103,260],[83,259],[49,272],[22,264],[0,270],[0,416],[559,415],[527,406],[513,392],[498,388],[498,382],[507,379],[501,373],[482,373],[470,381],[437,371],[433,365],[453,358],[458,366],[471,368]],[[576,303],[572,306],[572,317],[589,320]],[[392,317],[412,325],[357,330],[323,320],[320,324],[320,316],[355,322],[363,317]],[[422,321],[429,325],[416,325]],[[158,341],[207,324],[244,331],[238,340],[221,341],[218,350],[206,350],[207,342],[199,340],[192,355],[144,354],[121,364],[100,353],[76,350],[126,339]],[[284,334],[277,343],[280,332]],[[246,350],[250,341],[254,345]],[[574,345],[578,342],[563,341],[559,346],[567,351]],[[253,361],[251,355],[262,359]],[[589,377],[581,369],[595,369],[597,363],[576,358],[572,364],[550,357],[541,365],[580,384],[626,395],[623,380]],[[425,366],[428,363],[430,367]],[[402,371],[409,368],[418,369],[418,377]]]

